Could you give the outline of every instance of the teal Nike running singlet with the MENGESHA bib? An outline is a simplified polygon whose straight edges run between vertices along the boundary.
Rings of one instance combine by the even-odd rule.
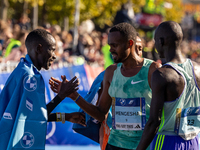
[[[110,145],[135,149],[149,118],[152,92],[148,83],[149,67],[153,61],[144,59],[141,70],[132,77],[121,74],[121,63],[114,71],[109,87],[112,97],[112,129]]]

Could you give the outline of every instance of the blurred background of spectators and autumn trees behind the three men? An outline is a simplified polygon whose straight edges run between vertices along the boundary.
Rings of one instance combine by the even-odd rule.
[[[180,23],[182,51],[199,62],[200,0],[1,0],[0,62],[18,61],[26,54],[27,33],[44,28],[57,41],[55,65],[87,63],[106,68],[112,63],[107,33],[120,22],[131,23],[138,31],[143,57],[162,61],[153,34],[166,20]]]

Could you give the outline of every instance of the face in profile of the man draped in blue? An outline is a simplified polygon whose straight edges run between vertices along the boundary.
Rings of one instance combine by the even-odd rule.
[[[49,35],[49,42],[43,43],[42,51],[39,56],[39,65],[41,68],[44,68],[48,70],[53,63],[53,61],[56,59],[55,55],[55,49],[56,49],[56,41],[53,38],[53,36]]]

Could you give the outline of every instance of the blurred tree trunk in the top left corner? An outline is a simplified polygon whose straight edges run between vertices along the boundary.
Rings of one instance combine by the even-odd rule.
[[[7,11],[8,11],[9,3],[8,0],[1,0],[0,6],[0,19],[6,21],[7,20]]]

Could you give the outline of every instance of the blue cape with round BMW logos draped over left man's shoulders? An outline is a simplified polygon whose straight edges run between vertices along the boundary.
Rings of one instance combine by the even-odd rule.
[[[28,55],[21,58],[0,95],[1,150],[45,149],[45,85]]]

